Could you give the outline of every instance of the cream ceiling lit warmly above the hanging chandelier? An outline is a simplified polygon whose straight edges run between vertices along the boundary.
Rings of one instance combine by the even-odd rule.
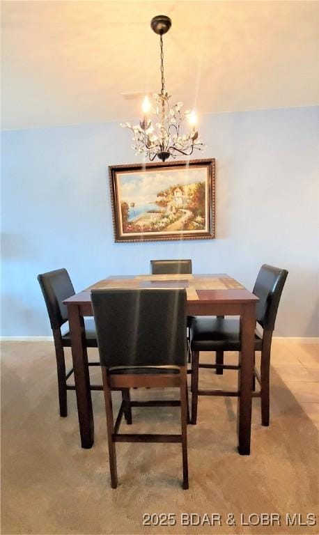
[[[3,1],[2,127],[138,117],[166,89],[199,113],[318,104],[316,1]]]

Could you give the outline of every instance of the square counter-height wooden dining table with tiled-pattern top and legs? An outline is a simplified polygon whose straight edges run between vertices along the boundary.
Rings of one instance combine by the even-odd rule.
[[[160,274],[111,276],[66,299],[75,373],[81,447],[94,442],[94,421],[84,317],[93,316],[93,288],[186,288],[187,316],[240,316],[240,369],[238,371],[238,451],[249,455],[251,400],[254,370],[254,332],[258,297],[227,274]]]

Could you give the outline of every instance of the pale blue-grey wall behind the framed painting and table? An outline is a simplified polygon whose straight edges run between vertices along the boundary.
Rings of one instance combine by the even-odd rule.
[[[205,116],[217,160],[217,238],[115,244],[110,164],[137,160],[117,123],[3,132],[3,336],[50,334],[36,275],[66,267],[75,288],[192,258],[251,288],[262,263],[289,270],[276,334],[318,336],[318,109]],[[201,155],[195,155],[201,157]]]

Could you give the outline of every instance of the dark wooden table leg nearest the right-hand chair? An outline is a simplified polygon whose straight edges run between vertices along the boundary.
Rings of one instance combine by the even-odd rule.
[[[240,455],[250,453],[251,435],[251,379],[254,370],[254,335],[256,327],[255,304],[244,304],[240,316],[240,369],[238,373],[238,451]]]

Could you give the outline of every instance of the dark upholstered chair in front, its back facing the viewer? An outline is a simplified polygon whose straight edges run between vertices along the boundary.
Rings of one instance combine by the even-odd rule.
[[[92,290],[91,298],[102,366],[111,487],[118,483],[116,442],[181,442],[182,486],[188,488],[185,288]],[[129,387],[178,387],[180,401],[130,401],[130,406],[180,406],[181,434],[118,433],[125,401],[114,424],[111,389]]]

